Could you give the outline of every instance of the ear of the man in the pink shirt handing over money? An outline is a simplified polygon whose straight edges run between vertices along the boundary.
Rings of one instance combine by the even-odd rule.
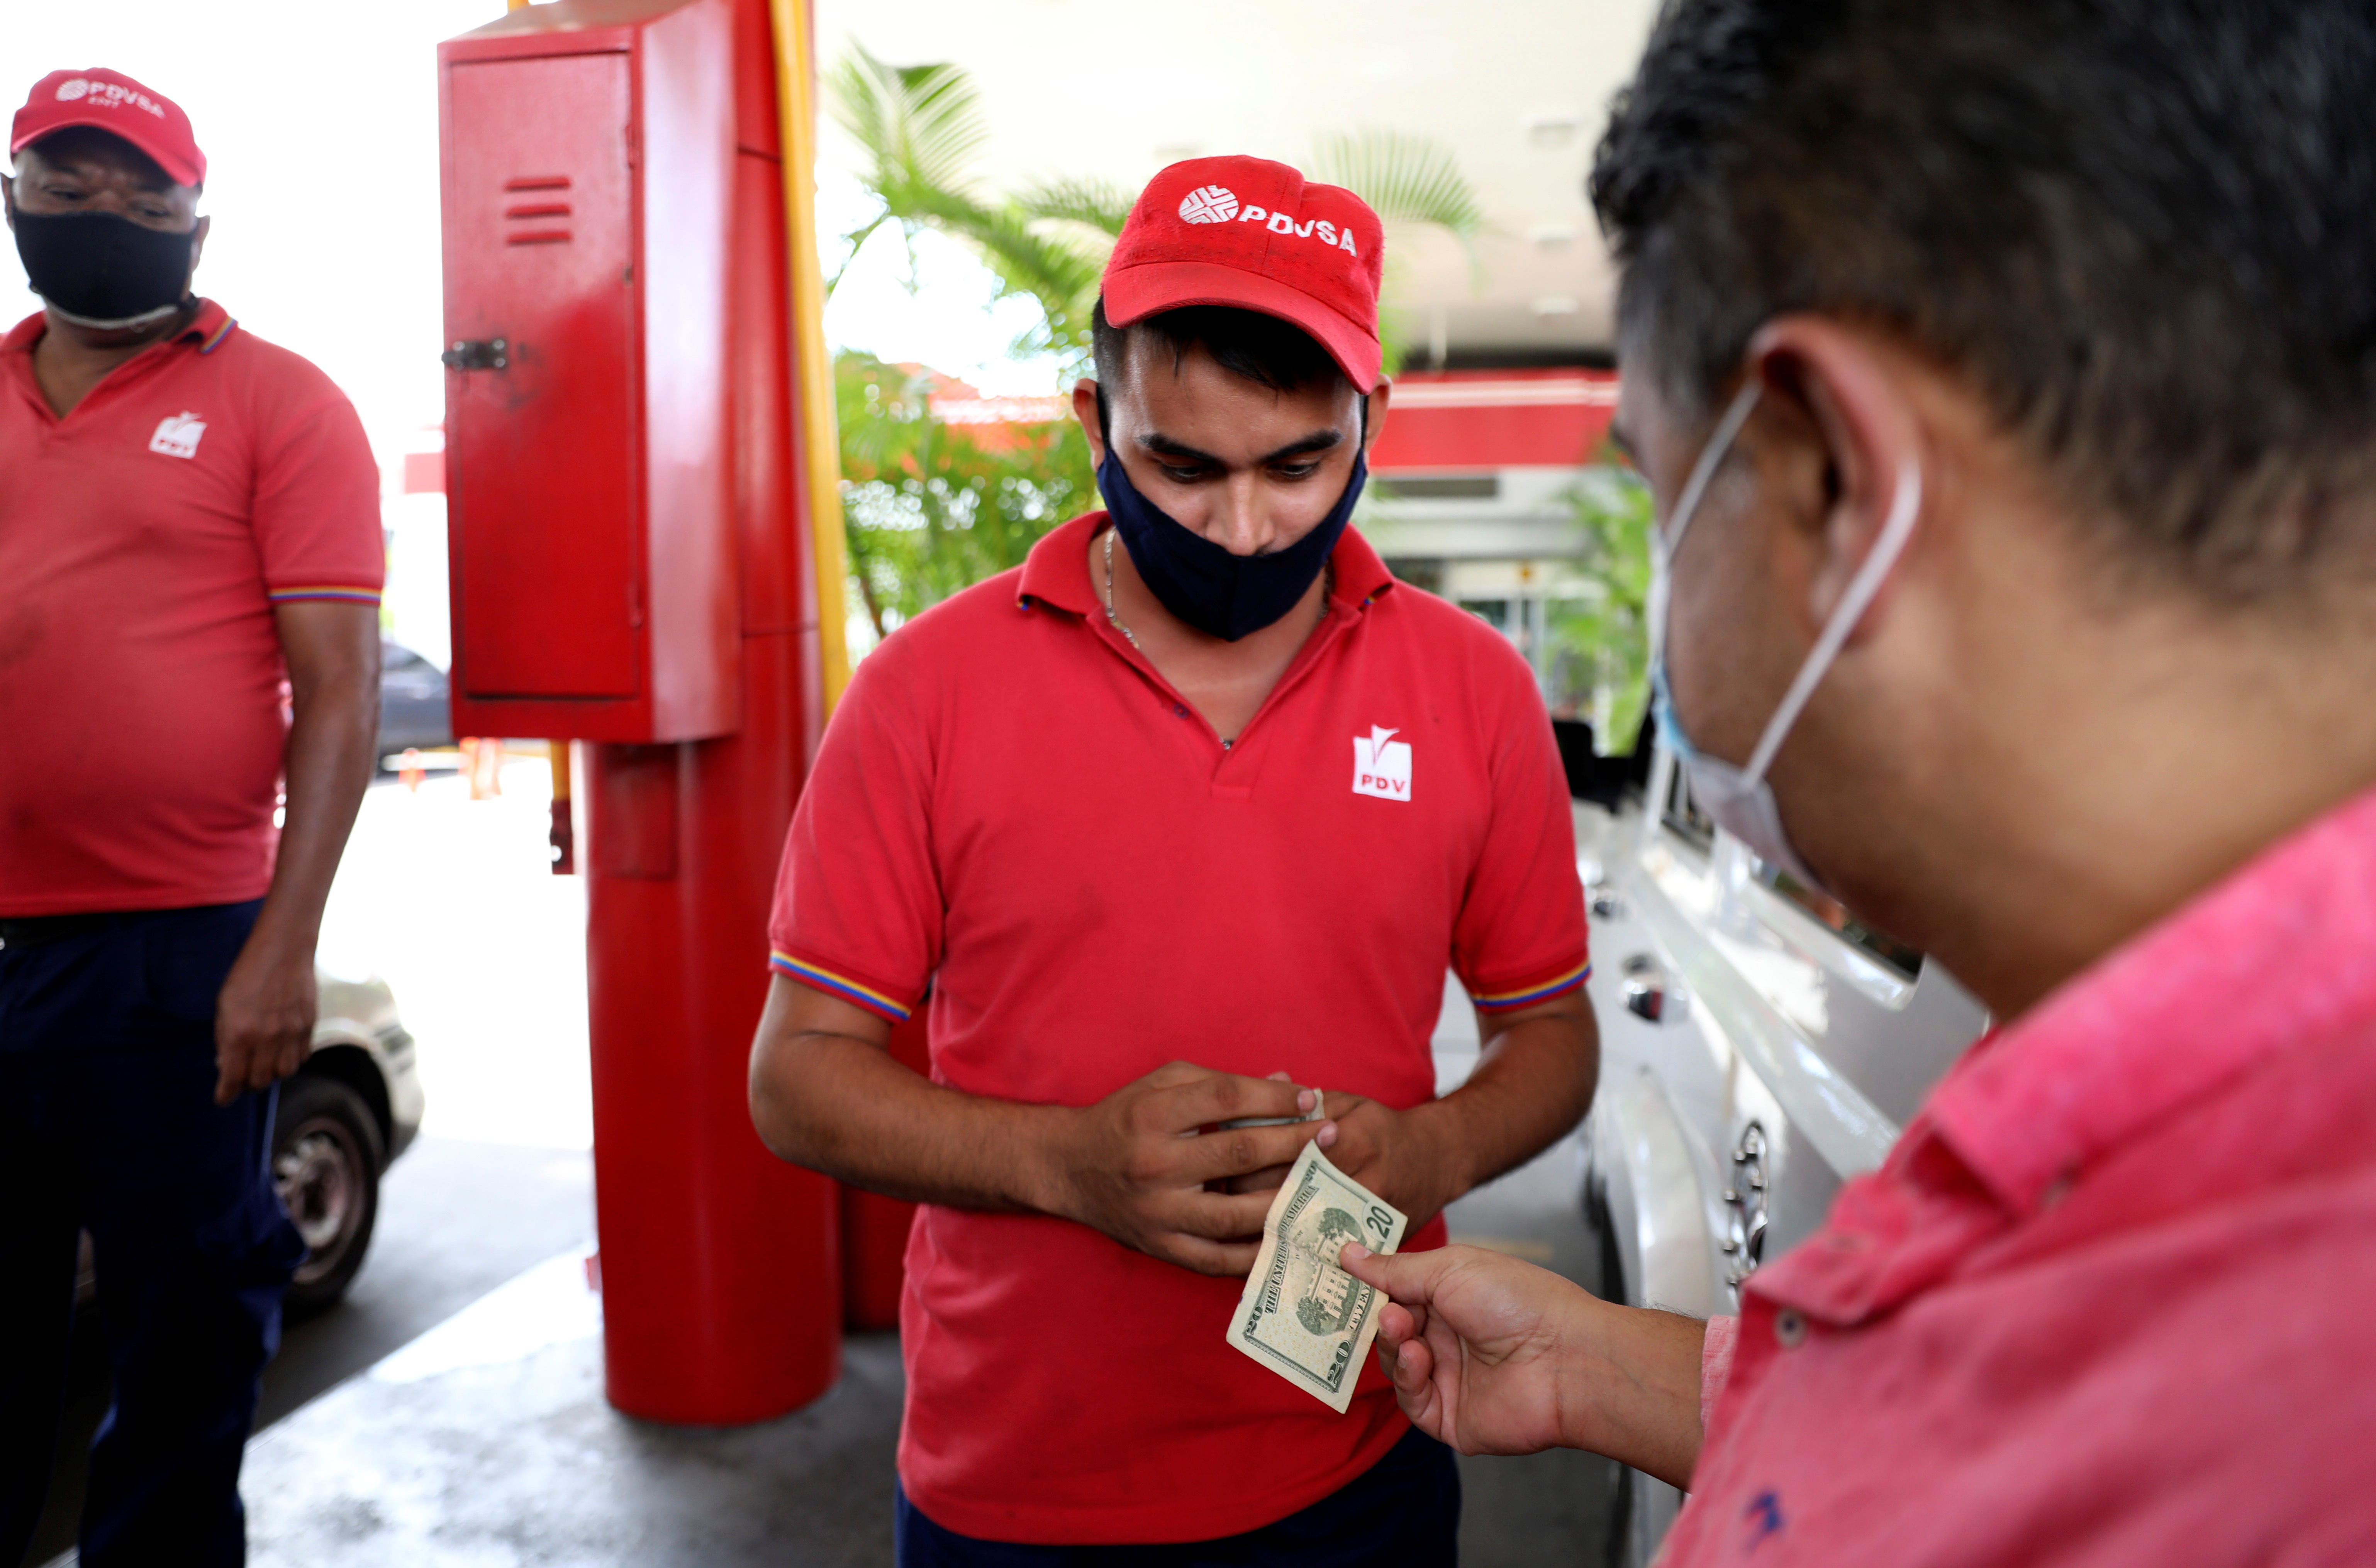
[[[1898,499],[1898,485],[1920,482],[1922,416],[1908,394],[1906,356],[1879,337],[1825,316],[1777,316],[1749,340],[1749,373],[1763,375],[1770,392],[1765,418],[1780,416],[1799,425],[1789,432],[1811,444],[1803,454],[1820,482],[1811,508],[1792,508],[1803,518],[1813,563],[1808,570],[1808,625],[1820,627],[1839,608],[1856,568],[1872,554]],[[1796,418],[1792,418],[1796,416]],[[1763,423],[1763,421],[1761,421]],[[1784,463],[1799,470],[1799,463]],[[1884,582],[1865,613],[1865,622],[1891,599]],[[1849,641],[1863,639],[1863,625]]]

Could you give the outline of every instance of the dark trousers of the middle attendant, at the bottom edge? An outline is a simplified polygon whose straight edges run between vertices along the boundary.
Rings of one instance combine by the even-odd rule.
[[[1250,1456],[1250,1463],[1259,1459]],[[1212,1542],[1157,1547],[1017,1547],[958,1535],[924,1518],[898,1487],[898,1568],[1454,1568],[1461,1473],[1452,1449],[1418,1428],[1385,1459],[1309,1509]]]

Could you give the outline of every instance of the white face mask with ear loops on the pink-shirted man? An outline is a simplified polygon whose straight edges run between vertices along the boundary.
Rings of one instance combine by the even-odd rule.
[[[1898,563],[1898,556],[1906,554],[1906,542],[1913,539],[1915,532],[1915,518],[1922,513],[1922,466],[1913,459],[1906,459],[1898,466],[1898,494],[1889,506],[1889,518],[1882,523],[1882,537],[1872,542],[1872,554],[1856,568],[1856,577],[1849,582],[1849,592],[1841,594],[1839,608],[1832,611],[1832,618],[1822,625],[1822,634],[1815,639],[1815,646],[1808,649],[1806,663],[1799,665],[1799,675],[1792,679],[1789,691],[1782,694],[1782,706],[1775,708],[1770,720],[1765,720],[1765,734],[1758,736],[1758,748],[1749,753],[1749,765],[1737,767],[1723,758],[1704,755],[1685,734],[1682,715],[1675,713],[1675,696],[1666,679],[1666,611],[1673,594],[1675,551],[1682,549],[1682,535],[1692,525],[1692,513],[1699,511],[1699,501],[1708,492],[1708,480],[1715,478],[1725,454],[1732,449],[1732,440],[1749,421],[1749,411],[1756,406],[1761,390],[1761,382],[1751,380],[1739,390],[1739,394],[1734,394],[1732,406],[1725,409],[1725,418],[1715,423],[1715,432],[1699,451],[1699,463],[1692,466],[1692,478],[1682,487],[1682,499],[1675,501],[1675,523],[1666,530],[1651,532],[1651,701],[1658,715],[1658,736],[1682,765],[1685,777],[1692,784],[1692,801],[1699,803],[1699,810],[1708,813],[1711,822],[1739,839],[1758,860],[1789,872],[1808,889],[1830,893],[1830,889],[1825,889],[1815,872],[1806,867],[1806,860],[1799,858],[1796,846],[1789,841],[1789,832],[1782,827],[1782,808],[1775,803],[1772,784],[1765,782],[1765,770],[1772,767],[1775,753],[1782,751],[1782,741],[1789,736],[1789,727],[1799,722],[1799,713],[1806,708],[1806,701],[1832,670],[1832,660],[1839,658],[1839,649],[1846,646],[1849,632],[1853,632],[1856,622],[1865,618],[1868,608],[1872,608],[1872,596],[1882,592],[1882,582],[1889,580],[1889,570]]]

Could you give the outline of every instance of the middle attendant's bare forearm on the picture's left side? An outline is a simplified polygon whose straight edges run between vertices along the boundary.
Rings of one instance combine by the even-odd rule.
[[[832,1033],[770,1045],[753,1062],[753,1112],[782,1159],[908,1202],[1007,1214],[1055,1209],[1048,1150],[1074,1114],[943,1088]]]

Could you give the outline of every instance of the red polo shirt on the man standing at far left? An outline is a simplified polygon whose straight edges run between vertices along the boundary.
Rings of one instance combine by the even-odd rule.
[[[259,898],[273,603],[380,601],[380,473],[330,378],[204,304],[67,418],[0,340],[0,915]]]

